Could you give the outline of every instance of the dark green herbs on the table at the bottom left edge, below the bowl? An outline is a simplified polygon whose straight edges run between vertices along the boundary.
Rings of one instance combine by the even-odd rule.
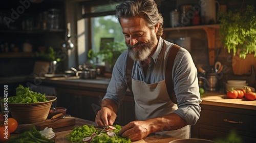
[[[11,137],[6,143],[16,143],[16,142],[54,142],[53,139],[48,139],[44,135],[40,134],[39,131],[36,130],[35,126],[33,126],[30,130],[25,131],[18,136]]]

